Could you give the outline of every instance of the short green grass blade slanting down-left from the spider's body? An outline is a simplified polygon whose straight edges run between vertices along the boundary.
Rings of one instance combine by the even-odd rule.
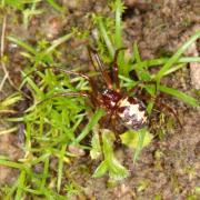
[[[102,109],[98,109],[94,114],[92,116],[89,123],[84,127],[82,132],[78,136],[78,138],[73,141],[73,144],[79,143],[87,134],[91,131],[93,126],[98,123],[98,121],[101,119],[101,117],[104,114],[104,111]]]

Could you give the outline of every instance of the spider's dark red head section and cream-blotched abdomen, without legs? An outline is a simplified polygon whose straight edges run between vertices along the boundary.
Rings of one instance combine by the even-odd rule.
[[[120,92],[106,89],[99,97],[99,106],[111,117],[118,117],[129,129],[138,130],[147,126],[147,112],[142,101],[133,97],[123,97]]]

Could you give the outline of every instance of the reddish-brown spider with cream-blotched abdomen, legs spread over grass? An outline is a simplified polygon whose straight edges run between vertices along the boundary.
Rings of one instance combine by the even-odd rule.
[[[63,92],[56,94],[53,97],[62,96],[62,97],[89,98],[94,108],[103,108],[106,110],[106,116],[102,117],[100,123],[102,126],[111,124],[118,141],[120,140],[116,130],[116,122],[118,120],[126,128],[133,130],[139,130],[143,127],[147,127],[149,123],[149,117],[143,101],[140,98],[130,96],[130,92],[132,92],[133,90],[130,90],[130,92],[124,92],[120,87],[117,59],[119,52],[124,49],[127,48],[120,48],[116,51],[113,62],[111,64],[111,72],[109,73],[107,69],[103,67],[103,63],[98,52],[91,47],[88,47],[88,52],[91,63],[94,70],[101,73],[101,78],[104,82],[104,87],[101,90],[99,90],[99,86],[97,84],[97,81],[92,77],[89,77],[86,73],[74,72],[74,71],[52,67],[52,69],[56,72],[63,72],[67,74],[76,74],[82,77],[83,79],[88,80],[91,87],[91,91],[88,92]],[[177,117],[177,114],[170,107],[163,103],[159,103],[159,104],[168,109]]]

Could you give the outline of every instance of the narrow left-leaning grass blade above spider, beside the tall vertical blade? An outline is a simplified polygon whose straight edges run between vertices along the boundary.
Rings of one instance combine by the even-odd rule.
[[[109,54],[113,59],[113,57],[114,57],[114,48],[113,48],[112,42],[111,42],[111,40],[110,40],[110,38],[109,38],[108,33],[107,33],[107,30],[104,28],[104,24],[103,24],[101,18],[98,19],[98,23],[99,23],[99,31],[100,31],[101,36],[103,37],[103,40],[104,40],[104,42],[107,44]]]

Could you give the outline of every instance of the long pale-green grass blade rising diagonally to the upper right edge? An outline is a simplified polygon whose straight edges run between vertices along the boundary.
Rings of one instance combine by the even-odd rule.
[[[166,64],[160,69],[156,76],[157,84],[160,84],[161,78],[164,76],[166,71],[172,67],[173,63],[178,61],[180,56],[198,39],[200,38],[200,31],[193,34],[178,51],[166,62]]]

